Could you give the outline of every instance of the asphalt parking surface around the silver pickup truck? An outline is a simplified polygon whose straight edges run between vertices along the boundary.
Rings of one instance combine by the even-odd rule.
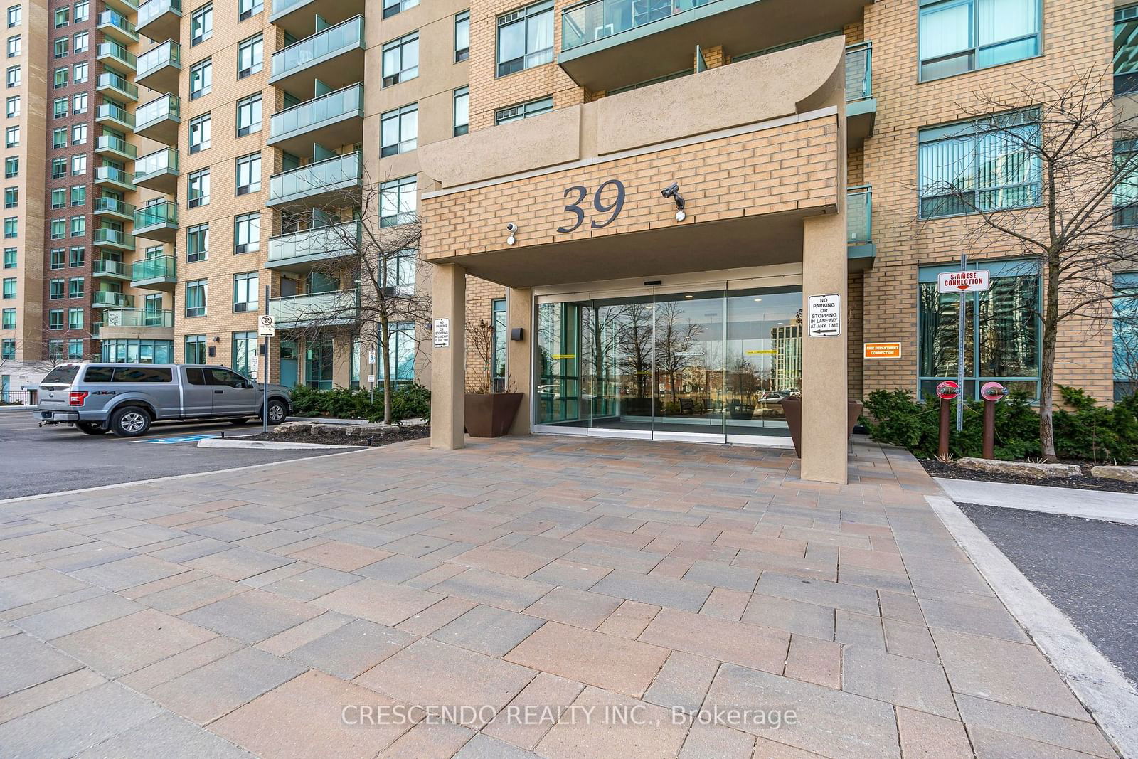
[[[331,449],[199,448],[197,436],[255,435],[259,422],[159,422],[138,438],[84,435],[73,427],[36,427],[30,411],[0,412],[0,498],[218,471],[337,453]],[[184,438],[184,439],[183,439]],[[158,443],[157,440],[165,440]]]

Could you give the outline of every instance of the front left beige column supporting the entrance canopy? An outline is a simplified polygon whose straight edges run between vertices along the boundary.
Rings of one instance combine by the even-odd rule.
[[[431,316],[450,320],[450,345],[431,347],[430,447],[464,445],[467,391],[467,270],[437,264],[431,272]]]

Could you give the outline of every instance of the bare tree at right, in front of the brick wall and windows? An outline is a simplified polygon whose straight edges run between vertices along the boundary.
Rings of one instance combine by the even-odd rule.
[[[1138,264],[1138,234],[1125,223],[1138,222],[1138,130],[1116,113],[1112,72],[1025,79],[1006,93],[976,92],[974,104],[960,110],[976,148],[947,141],[939,160],[922,162],[922,216],[972,214],[962,249],[1019,255],[1042,274],[1042,303],[1030,307],[1042,328],[1039,438],[1054,461],[1058,331],[1075,319],[1108,323],[1113,273]]]

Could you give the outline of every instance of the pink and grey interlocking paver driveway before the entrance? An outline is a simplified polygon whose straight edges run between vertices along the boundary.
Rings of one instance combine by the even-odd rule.
[[[0,756],[1116,756],[908,454],[797,472],[535,437],[0,503]]]

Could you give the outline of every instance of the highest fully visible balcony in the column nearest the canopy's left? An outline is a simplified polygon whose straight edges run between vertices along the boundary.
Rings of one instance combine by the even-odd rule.
[[[302,98],[316,96],[318,79],[337,89],[360,82],[363,44],[363,16],[355,16],[274,52],[269,82]]]

